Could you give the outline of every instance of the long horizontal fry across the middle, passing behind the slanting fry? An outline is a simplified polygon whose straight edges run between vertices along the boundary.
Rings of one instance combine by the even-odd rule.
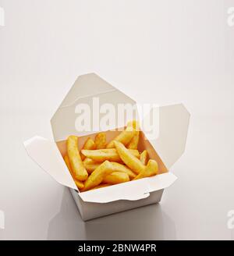
[[[128,151],[130,155],[134,155],[135,157],[140,158],[140,154],[137,149],[128,149]],[[87,158],[91,158],[96,162],[104,162],[105,160],[112,162],[122,161],[115,148],[104,148],[96,150],[83,149],[81,152]]]

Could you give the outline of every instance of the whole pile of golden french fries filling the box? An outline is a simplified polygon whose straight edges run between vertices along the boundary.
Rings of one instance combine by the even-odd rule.
[[[78,137],[69,136],[64,161],[80,192],[156,175],[158,163],[137,149],[139,135],[139,123],[133,120],[108,143],[105,133],[89,137],[81,151]]]

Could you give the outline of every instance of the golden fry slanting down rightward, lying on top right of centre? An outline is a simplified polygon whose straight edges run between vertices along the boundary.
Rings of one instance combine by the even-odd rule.
[[[120,158],[122,159],[122,162],[124,162],[130,169],[132,169],[133,172],[136,172],[138,174],[144,171],[145,165],[142,162],[140,162],[138,158],[132,155],[129,152],[129,149],[127,149],[119,141],[114,141],[114,144]]]

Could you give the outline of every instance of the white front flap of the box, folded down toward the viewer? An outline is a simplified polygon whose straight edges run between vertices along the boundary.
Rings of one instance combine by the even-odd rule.
[[[132,180],[97,190],[89,190],[79,195],[83,201],[93,203],[108,203],[117,200],[136,201],[148,197],[153,191],[169,187],[176,179],[174,174],[166,172],[149,178]]]

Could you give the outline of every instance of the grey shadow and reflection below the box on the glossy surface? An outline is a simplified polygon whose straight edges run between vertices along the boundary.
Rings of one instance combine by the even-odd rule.
[[[64,188],[60,211],[48,226],[48,240],[176,240],[176,226],[160,204],[83,222]]]

